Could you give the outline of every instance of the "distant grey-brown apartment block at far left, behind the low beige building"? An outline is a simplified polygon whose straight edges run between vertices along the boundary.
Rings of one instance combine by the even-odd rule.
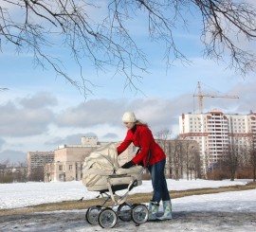
[[[54,162],[54,152],[27,152],[27,177],[28,179],[34,175],[36,180],[40,179],[40,171],[44,171],[47,163]],[[33,178],[32,178],[33,179]],[[41,179],[43,181],[43,179]]]

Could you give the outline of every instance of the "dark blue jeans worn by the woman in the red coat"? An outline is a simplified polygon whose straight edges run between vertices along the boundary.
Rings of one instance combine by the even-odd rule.
[[[152,178],[152,186],[154,189],[152,202],[159,203],[161,200],[170,200],[170,195],[164,175],[165,163],[166,159],[163,159],[149,167]]]

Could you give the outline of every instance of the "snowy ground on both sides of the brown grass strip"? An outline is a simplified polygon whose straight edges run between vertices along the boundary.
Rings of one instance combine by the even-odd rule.
[[[168,180],[169,190],[246,185],[249,180],[230,182]],[[143,181],[129,194],[152,192],[151,181]],[[119,191],[119,195],[125,190]],[[39,205],[67,200],[93,199],[99,192],[87,191],[82,182],[15,183],[0,185],[0,209]],[[172,194],[171,194],[172,196]],[[172,221],[119,222],[111,231],[255,231],[256,189],[193,195],[172,200]],[[84,210],[0,216],[0,231],[101,231],[100,225],[84,220]],[[195,223],[196,222],[196,223]],[[203,226],[203,227],[202,227]],[[40,229],[39,229],[40,228]],[[104,229],[107,231],[107,229]]]

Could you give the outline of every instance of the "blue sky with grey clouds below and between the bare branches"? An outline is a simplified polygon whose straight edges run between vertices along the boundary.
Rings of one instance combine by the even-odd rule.
[[[104,10],[102,5],[93,17],[100,20]],[[188,17],[189,29],[177,27],[174,39],[190,64],[176,61],[167,68],[165,45],[149,40],[145,21],[131,20],[129,31],[147,55],[148,72],[135,80],[136,88],[129,88],[123,76],[113,75],[114,69],[97,72],[84,59],[83,75],[90,90],[86,98],[74,85],[56,76],[50,66],[36,66],[30,53],[17,54],[11,45],[2,43],[0,88],[8,90],[0,92],[0,162],[24,162],[27,152],[81,144],[85,135],[96,135],[102,142],[120,141],[126,134],[121,122],[125,111],[134,111],[137,118],[149,124],[153,134],[169,129],[174,137],[179,132],[178,116],[199,110],[198,99],[193,97],[198,81],[205,94],[239,97],[204,98],[204,112],[216,108],[226,114],[256,112],[255,71],[244,77],[227,68],[225,62],[205,59],[200,22]],[[254,44],[245,46],[256,49]],[[46,52],[57,55],[64,71],[80,80],[80,69],[64,47],[46,47]]]

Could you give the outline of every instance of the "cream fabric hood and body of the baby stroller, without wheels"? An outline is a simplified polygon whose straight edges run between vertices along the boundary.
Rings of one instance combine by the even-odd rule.
[[[130,185],[137,180],[142,184],[143,167],[134,166],[130,169],[119,167],[117,146],[109,143],[91,152],[84,159],[82,167],[82,183],[90,191],[107,190],[113,186]]]

